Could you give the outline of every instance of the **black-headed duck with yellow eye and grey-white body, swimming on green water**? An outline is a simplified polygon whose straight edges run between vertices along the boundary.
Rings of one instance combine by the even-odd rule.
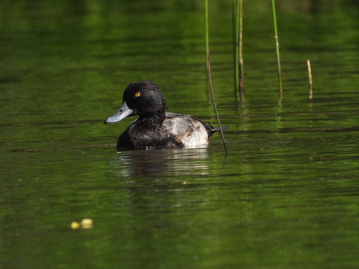
[[[208,145],[208,138],[219,131],[219,127],[213,127],[196,117],[166,110],[166,100],[157,85],[141,80],[127,85],[121,107],[104,123],[115,123],[129,116],[139,116],[118,137],[118,150],[203,147]]]

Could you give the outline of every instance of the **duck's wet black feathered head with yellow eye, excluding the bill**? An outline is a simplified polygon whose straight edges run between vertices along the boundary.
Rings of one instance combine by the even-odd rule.
[[[123,92],[123,103],[133,111],[132,115],[149,118],[165,113],[166,100],[156,84],[151,81],[137,81],[127,85]]]

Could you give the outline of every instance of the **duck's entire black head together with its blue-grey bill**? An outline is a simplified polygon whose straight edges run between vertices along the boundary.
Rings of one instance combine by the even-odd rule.
[[[121,107],[104,123],[118,122],[134,115],[140,118],[162,118],[163,121],[166,109],[166,101],[156,84],[141,80],[127,85]]]

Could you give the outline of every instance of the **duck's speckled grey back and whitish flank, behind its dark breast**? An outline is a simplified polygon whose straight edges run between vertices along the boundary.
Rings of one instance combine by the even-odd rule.
[[[176,113],[166,113],[161,133],[171,134],[183,147],[198,147],[208,144],[213,127],[199,119]]]

